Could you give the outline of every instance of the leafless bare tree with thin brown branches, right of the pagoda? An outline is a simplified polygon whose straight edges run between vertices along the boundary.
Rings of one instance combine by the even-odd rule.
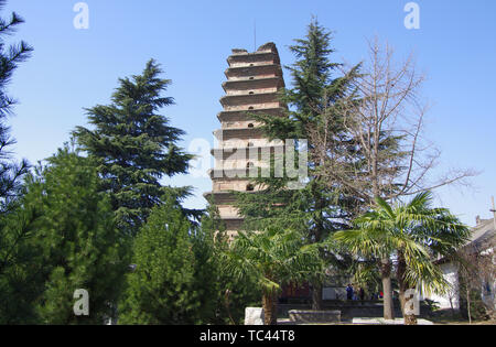
[[[320,124],[308,129],[316,144],[309,156],[320,163],[320,175],[359,199],[356,206],[362,212],[377,197],[397,200],[448,184],[467,185],[466,178],[477,174],[473,170],[430,177],[440,151],[423,137],[430,105],[422,101],[425,76],[417,71],[413,55],[397,64],[393,50],[377,37],[368,42],[368,53],[348,96],[321,107]],[[343,68],[343,73],[351,72]],[[390,259],[381,259],[380,269],[385,318],[392,318]]]

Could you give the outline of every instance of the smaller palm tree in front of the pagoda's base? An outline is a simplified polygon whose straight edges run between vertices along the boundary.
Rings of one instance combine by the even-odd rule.
[[[273,227],[261,232],[239,232],[224,256],[226,270],[234,276],[251,278],[258,283],[266,325],[277,325],[277,295],[282,285],[323,271],[314,245],[305,245],[298,231]]]

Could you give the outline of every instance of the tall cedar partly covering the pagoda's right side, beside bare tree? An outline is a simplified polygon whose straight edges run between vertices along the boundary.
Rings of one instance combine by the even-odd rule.
[[[290,47],[296,57],[296,62],[287,67],[293,88],[283,90],[281,96],[290,107],[289,117],[254,116],[262,122],[270,139],[309,139],[309,129],[322,126],[322,112],[332,111],[333,105],[348,94],[358,66],[333,78],[339,64],[330,61],[334,52],[331,40],[331,33],[314,19],[305,39],[295,40],[295,45]],[[337,135],[343,131],[342,119],[338,112],[334,116],[327,130]],[[309,142],[308,147],[312,151],[314,144]],[[256,230],[263,229],[260,224],[279,224],[281,229],[291,227],[303,231],[310,243],[321,242],[330,232],[346,228],[346,221],[353,218],[355,199],[342,194],[338,187],[328,188],[319,175],[319,164],[309,161],[309,182],[303,189],[287,189],[287,178],[258,178],[257,183],[265,187],[263,194],[239,194],[238,207],[246,216],[247,228]],[[322,256],[336,268],[348,265],[341,261],[342,257],[331,252],[323,251]],[[323,274],[315,273],[309,280],[313,288],[313,307],[321,310]]]

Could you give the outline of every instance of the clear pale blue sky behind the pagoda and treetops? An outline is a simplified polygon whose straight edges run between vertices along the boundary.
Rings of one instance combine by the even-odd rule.
[[[13,41],[34,46],[33,57],[15,72],[10,94],[19,99],[11,119],[15,153],[36,163],[86,124],[85,107],[108,104],[119,77],[138,74],[151,57],[173,80],[168,96],[176,105],[163,113],[187,135],[213,143],[219,127],[222,83],[231,48],[254,51],[274,42],[283,64],[288,45],[305,34],[312,14],[335,32],[336,61],[357,63],[366,39],[377,34],[396,47],[398,57],[414,51],[429,80],[424,94],[434,102],[428,137],[441,149],[440,170],[473,167],[481,175],[473,189],[436,191],[438,203],[463,221],[490,218],[496,195],[496,1],[418,0],[420,29],[407,30],[407,0],[86,0],[89,29],[76,30],[77,0],[10,0],[1,15],[21,14],[24,23]],[[285,74],[287,84],[290,84]],[[207,177],[168,180],[192,185],[191,207],[203,207]]]

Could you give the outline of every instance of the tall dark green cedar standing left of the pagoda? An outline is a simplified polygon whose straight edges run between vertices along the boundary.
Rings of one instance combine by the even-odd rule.
[[[131,236],[164,196],[181,200],[191,191],[160,184],[163,176],[185,173],[193,158],[176,145],[184,131],[158,115],[162,107],[174,104],[173,98],[161,96],[171,83],[160,78],[161,73],[151,59],[141,75],[119,79],[111,105],[87,109],[95,129],[77,127],[73,132],[82,149],[99,160],[118,227]],[[198,216],[197,212],[185,213]]]

